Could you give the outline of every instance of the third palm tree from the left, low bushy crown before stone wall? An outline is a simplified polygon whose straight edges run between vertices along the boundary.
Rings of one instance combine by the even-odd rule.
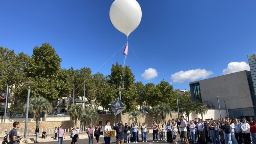
[[[82,116],[82,123],[88,120],[88,124],[92,124],[92,120],[97,120],[99,118],[98,112],[95,109],[85,109]]]

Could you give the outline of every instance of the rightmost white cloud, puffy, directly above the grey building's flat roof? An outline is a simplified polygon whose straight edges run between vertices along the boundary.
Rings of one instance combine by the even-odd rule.
[[[222,75],[244,70],[250,71],[249,64],[246,64],[245,62],[231,62],[228,64],[228,67],[222,71]]]

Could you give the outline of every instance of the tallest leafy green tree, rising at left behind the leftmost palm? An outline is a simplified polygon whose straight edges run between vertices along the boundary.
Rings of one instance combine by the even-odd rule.
[[[33,49],[24,68],[27,80],[35,82],[31,85],[31,97],[44,96],[51,101],[66,96],[72,90],[68,71],[61,70],[60,62],[61,58],[49,43]],[[15,95],[26,99],[27,87],[22,84]]]

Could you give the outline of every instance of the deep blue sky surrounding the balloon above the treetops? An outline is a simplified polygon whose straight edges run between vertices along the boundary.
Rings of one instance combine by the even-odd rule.
[[[129,35],[126,62],[136,81],[158,84],[164,79],[175,89],[189,89],[188,81],[248,70],[247,55],[256,46],[256,1],[137,1],[142,19]],[[110,21],[113,2],[1,1],[0,46],[31,56],[36,45],[49,42],[62,68],[95,72],[127,42]],[[99,72],[108,75],[111,64],[123,64],[122,52]],[[148,69],[145,80],[141,74]]]

